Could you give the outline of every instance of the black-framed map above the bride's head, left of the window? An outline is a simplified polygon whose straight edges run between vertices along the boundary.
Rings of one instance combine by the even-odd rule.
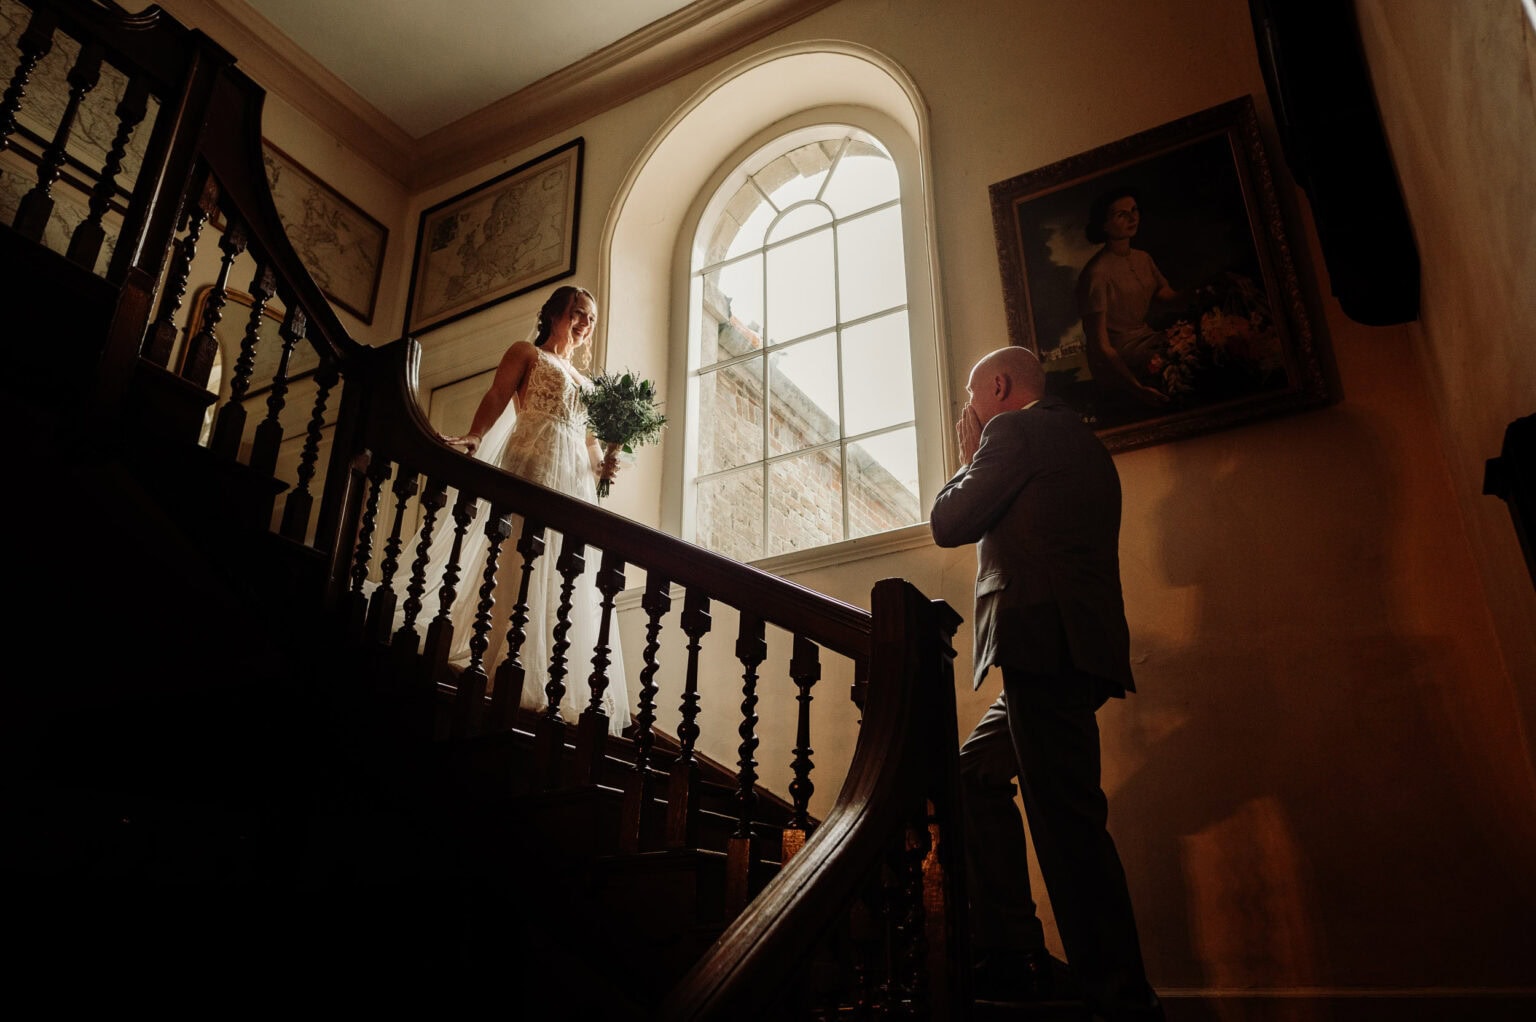
[[[576,272],[585,141],[573,138],[422,211],[406,333],[422,333]]]

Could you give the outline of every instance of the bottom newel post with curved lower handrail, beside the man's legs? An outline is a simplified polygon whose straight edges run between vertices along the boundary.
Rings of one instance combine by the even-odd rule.
[[[869,696],[848,779],[805,850],[791,859],[716,941],[662,1005],[667,1022],[783,1017],[786,976],[806,945],[846,911],[892,836],[926,827],[935,845],[923,890],[938,917],[923,919],[928,988],[911,1017],[960,1019],[969,997],[968,942],[954,793],[954,650],[958,615],[909,582],[885,579],[872,593]],[[793,987],[793,984],[790,984]],[[883,1005],[891,1014],[903,1014]]]

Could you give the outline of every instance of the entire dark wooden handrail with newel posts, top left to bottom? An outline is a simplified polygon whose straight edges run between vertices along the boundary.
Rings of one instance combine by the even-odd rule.
[[[889,868],[895,848],[897,858],[905,856],[903,868],[914,888],[906,891],[903,904],[922,928],[919,934],[906,934],[903,947],[923,961],[894,970],[902,981],[882,994],[883,1008],[958,1017],[966,997],[960,957],[965,899],[954,822],[957,727],[951,639],[958,616],[900,579],[880,582],[872,610],[865,612],[447,447],[418,400],[419,344],[409,337],[378,349],[358,344],[303,267],[263,172],[264,94],[235,69],[232,57],[155,8],[127,15],[112,5],[86,0],[23,3],[57,11],[61,29],[69,34],[106,41],[108,60],[147,78],[161,103],[108,269],[108,283],[118,289],[118,300],[94,389],[97,415],[111,423],[137,380],[167,372],[143,360],[141,346],[178,224],[184,211],[198,203],[203,175],[210,174],[218,184],[220,207],[238,218],[252,252],[272,269],[281,301],[307,320],[306,343],[321,357],[318,375],[341,384],[319,516],[306,550],[324,559],[318,582],[324,592],[313,593],[313,602],[295,607],[293,613],[321,607],[346,618],[356,610],[349,604],[358,596],[353,546],[373,486],[367,473],[370,467],[398,464],[430,481],[433,489],[452,487],[558,526],[561,533],[599,547],[610,559],[685,589],[690,602],[716,599],[750,618],[754,627],[766,622],[790,632],[797,649],[800,642],[813,642],[848,658],[865,719],[831,815],[673,991],[664,1014],[734,1019],[773,1013],[780,1005],[783,977],[805,962],[809,942],[846,913],[871,874]],[[639,581],[631,578],[630,586]],[[404,593],[404,575],[396,584]],[[418,624],[429,618],[430,610]],[[746,822],[742,825],[745,830]],[[925,905],[942,910],[925,914]]]

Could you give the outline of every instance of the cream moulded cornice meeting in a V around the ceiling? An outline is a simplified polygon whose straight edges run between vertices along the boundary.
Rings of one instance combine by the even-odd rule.
[[[696,0],[473,114],[412,138],[244,0],[161,0],[240,68],[410,192],[610,111],[837,0]]]

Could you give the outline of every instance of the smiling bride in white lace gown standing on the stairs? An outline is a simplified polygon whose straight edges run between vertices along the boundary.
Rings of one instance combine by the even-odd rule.
[[[598,303],[587,289],[570,284],[556,287],[539,309],[533,340],[516,341],[502,355],[496,378],[481,398],[468,432],[442,440],[516,476],[596,503],[602,450],[587,433],[581,389],[588,386],[588,381],[571,364],[571,357],[591,341],[596,324]],[[513,406],[513,415],[505,415],[508,406]],[[518,598],[522,562],[516,544],[521,536],[522,519],[513,515],[511,533],[502,544],[490,644],[482,661],[490,678],[496,676],[496,665],[504,653],[507,621]],[[554,570],[561,553],[561,536],[547,533],[545,538],[548,546],[535,562],[528,579],[527,638],[518,655],[527,670],[519,702],[533,710],[544,710],[548,704],[544,685],[548,681],[550,647],[562,584],[559,572]],[[453,649],[449,652],[449,662],[456,667],[464,667],[470,661],[468,644],[485,562],[484,546],[478,549],[473,562],[462,566],[461,579],[467,592],[461,592],[453,607]],[[565,696],[561,699],[561,716],[567,721],[576,721],[591,702],[588,676],[602,615],[596,586],[601,556],[599,550],[587,547],[587,569],[576,579],[570,596],[570,630],[565,635],[570,649]],[[608,715],[608,730],[617,735],[630,722],[630,699],[624,656],[619,652],[616,613],[608,624],[608,645],[610,665],[605,672],[608,687],[601,705]]]

